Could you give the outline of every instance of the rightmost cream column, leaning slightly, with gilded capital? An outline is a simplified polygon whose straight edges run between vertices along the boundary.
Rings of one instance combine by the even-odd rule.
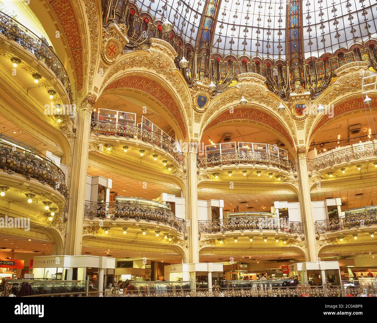
[[[306,149],[297,149],[297,171],[299,174],[299,185],[300,185],[300,207],[301,207],[301,217],[302,225],[305,232],[305,244],[307,261],[317,261],[317,251],[316,251],[316,234],[314,229],[313,214],[311,210],[311,199],[310,199],[310,188],[308,180],[308,167],[306,160]]]

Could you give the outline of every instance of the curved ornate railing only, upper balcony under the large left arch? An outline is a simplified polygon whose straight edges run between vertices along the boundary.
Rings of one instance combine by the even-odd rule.
[[[161,134],[151,131],[146,128],[141,128],[134,125],[125,125],[116,122],[92,120],[91,129],[96,135],[106,135],[115,137],[124,137],[126,139],[141,140],[142,142],[149,143],[157,146],[166,151],[176,160],[176,162],[183,166],[184,158],[168,138]]]

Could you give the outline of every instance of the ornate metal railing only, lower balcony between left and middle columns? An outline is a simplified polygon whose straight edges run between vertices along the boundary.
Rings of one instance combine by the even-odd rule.
[[[168,225],[179,232],[186,231],[186,221],[175,217],[168,208],[129,202],[85,202],[84,216],[90,220],[106,218],[125,221],[146,221]]]

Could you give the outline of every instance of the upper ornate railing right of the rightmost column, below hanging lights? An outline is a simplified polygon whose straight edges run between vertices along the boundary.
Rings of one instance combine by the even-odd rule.
[[[350,162],[364,157],[377,157],[377,143],[351,145],[343,149],[332,149],[317,158],[308,159],[308,170],[318,171],[336,164]]]

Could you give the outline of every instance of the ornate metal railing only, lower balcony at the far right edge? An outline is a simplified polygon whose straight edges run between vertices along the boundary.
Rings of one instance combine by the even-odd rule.
[[[377,225],[377,211],[343,215],[341,217],[314,222],[317,233],[334,232],[343,229],[368,228]]]

